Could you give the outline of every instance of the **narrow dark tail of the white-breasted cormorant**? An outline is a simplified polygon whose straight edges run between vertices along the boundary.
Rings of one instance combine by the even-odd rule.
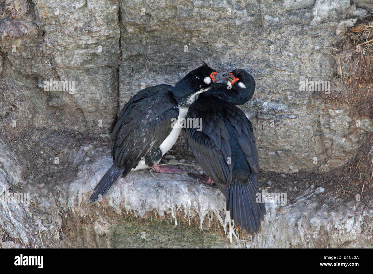
[[[97,186],[94,188],[89,202],[93,204],[99,198],[103,198],[124,171],[124,167],[117,167],[115,165],[112,165],[112,167],[110,167],[110,169],[105,173],[100,182],[98,182]]]

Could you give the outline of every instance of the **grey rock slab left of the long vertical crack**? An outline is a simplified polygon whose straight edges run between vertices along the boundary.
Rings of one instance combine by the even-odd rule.
[[[28,108],[43,101],[44,107],[31,117],[33,125],[109,131],[117,110],[119,4],[6,0],[1,7],[0,45],[10,63],[2,78],[6,84],[31,88],[24,92],[32,93],[25,96],[31,101],[23,103]],[[45,92],[43,82],[50,79],[74,81],[74,93]]]

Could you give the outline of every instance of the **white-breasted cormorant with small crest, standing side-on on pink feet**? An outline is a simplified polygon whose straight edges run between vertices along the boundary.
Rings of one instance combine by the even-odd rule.
[[[188,107],[196,96],[225,79],[206,63],[189,72],[175,86],[156,85],[137,92],[122,108],[112,132],[113,165],[93,190],[90,202],[103,198],[121,174],[154,167],[170,173],[179,169],[158,166],[162,156],[175,144]],[[172,126],[172,119],[178,122]],[[180,171],[180,170],[179,170]]]

